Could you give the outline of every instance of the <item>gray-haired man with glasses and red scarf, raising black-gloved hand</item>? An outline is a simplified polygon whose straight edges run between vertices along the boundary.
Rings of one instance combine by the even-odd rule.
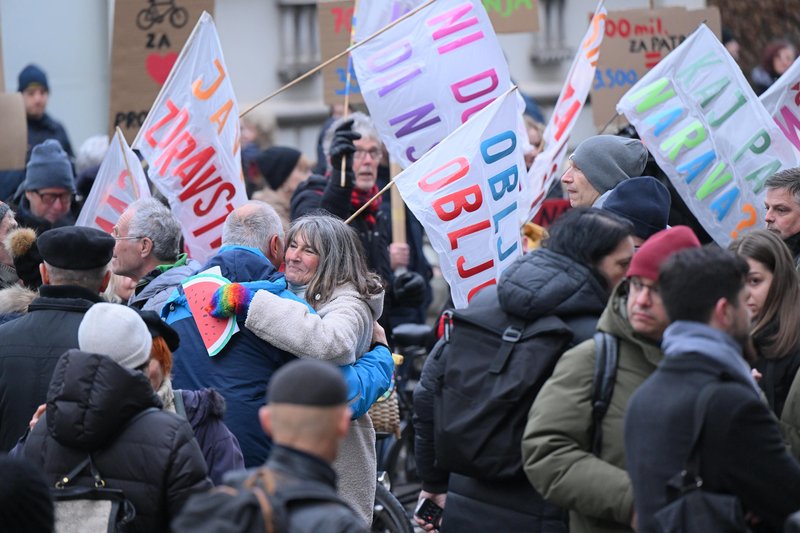
[[[323,148],[328,157],[328,172],[325,176],[311,176],[298,186],[292,196],[292,221],[320,209],[346,220],[378,193],[378,167],[384,158],[383,145],[367,115],[351,113],[334,122],[325,136]],[[429,292],[428,282],[415,268],[417,265],[423,265],[425,270],[429,267],[424,262],[421,238],[419,246],[413,249],[407,243],[393,242],[391,216],[388,209],[381,208],[383,201],[383,198],[378,198],[372,202],[350,223],[350,227],[361,239],[367,266],[380,275],[386,285],[379,323],[391,338],[389,319],[392,310],[416,308],[425,301]]]

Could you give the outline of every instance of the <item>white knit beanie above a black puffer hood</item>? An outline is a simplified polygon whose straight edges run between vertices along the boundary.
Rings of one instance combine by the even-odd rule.
[[[138,368],[150,360],[153,338],[139,313],[120,304],[97,303],[78,327],[78,347],[106,355],[120,366]]]

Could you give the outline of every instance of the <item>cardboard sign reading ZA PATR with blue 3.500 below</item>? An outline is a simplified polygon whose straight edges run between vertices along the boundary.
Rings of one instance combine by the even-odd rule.
[[[703,21],[719,37],[719,9],[682,7],[609,11],[606,35],[592,85],[592,118],[599,129],[614,116],[615,106],[667,54]],[[620,120],[617,126],[624,125]]]

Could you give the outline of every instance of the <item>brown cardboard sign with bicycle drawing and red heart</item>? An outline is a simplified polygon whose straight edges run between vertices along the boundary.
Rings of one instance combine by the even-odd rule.
[[[109,135],[133,141],[186,39],[214,0],[125,0],[114,3]]]

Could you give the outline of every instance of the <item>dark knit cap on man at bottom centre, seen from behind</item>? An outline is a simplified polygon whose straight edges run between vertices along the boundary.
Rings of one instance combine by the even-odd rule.
[[[269,382],[267,403],[333,407],[347,403],[347,385],[331,363],[298,359],[278,369]]]

